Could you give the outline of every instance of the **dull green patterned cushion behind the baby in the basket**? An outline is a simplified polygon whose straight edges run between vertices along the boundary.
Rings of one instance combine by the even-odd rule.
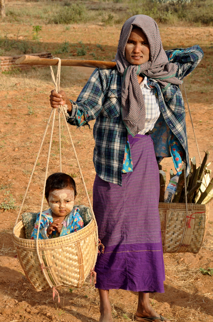
[[[90,220],[92,219],[91,210],[89,207],[86,207],[84,205],[75,205],[74,207],[78,207],[80,209],[80,216],[83,219],[84,226],[86,226]],[[31,232],[34,228],[36,218],[38,213],[22,213],[22,221],[25,228],[25,235],[26,239],[31,238]]]

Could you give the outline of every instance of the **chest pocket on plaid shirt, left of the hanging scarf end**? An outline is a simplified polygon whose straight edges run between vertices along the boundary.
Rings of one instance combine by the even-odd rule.
[[[105,97],[101,114],[106,118],[118,117],[121,113],[121,91],[110,89]]]

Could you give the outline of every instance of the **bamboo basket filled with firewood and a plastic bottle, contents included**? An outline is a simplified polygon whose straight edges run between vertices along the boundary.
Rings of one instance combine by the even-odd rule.
[[[208,158],[209,152],[206,151],[201,165],[197,167],[193,157],[187,177],[184,165],[179,176],[170,170],[170,182],[166,192],[166,173],[159,165],[159,213],[163,251],[166,253],[197,253],[202,246],[208,222],[209,202],[213,199],[213,178],[210,178]]]

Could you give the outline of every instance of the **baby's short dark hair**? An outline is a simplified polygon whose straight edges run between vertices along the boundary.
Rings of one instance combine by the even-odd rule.
[[[55,189],[64,189],[70,187],[74,190],[74,195],[76,196],[76,186],[75,181],[70,175],[63,172],[53,173],[49,175],[45,185],[45,197],[49,197],[49,193]]]

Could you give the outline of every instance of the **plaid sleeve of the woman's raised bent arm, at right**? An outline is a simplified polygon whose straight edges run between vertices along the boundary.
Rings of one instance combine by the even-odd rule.
[[[203,51],[199,45],[185,49],[166,50],[165,52],[169,62],[175,63],[178,66],[176,77],[180,80],[188,76],[203,58]]]

